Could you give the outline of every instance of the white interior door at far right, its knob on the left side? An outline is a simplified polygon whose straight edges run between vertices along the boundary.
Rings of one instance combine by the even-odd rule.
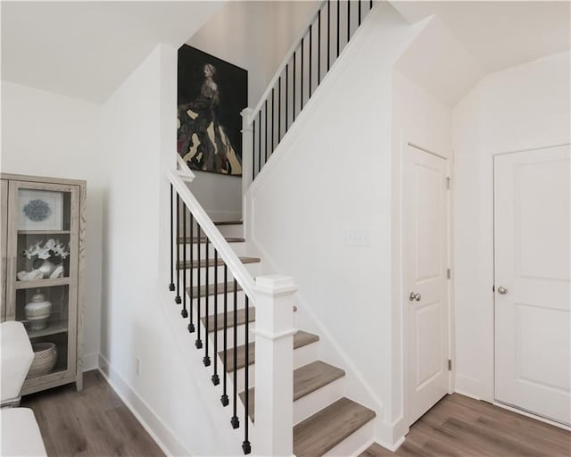
[[[495,398],[567,425],[570,149],[494,160]]]

